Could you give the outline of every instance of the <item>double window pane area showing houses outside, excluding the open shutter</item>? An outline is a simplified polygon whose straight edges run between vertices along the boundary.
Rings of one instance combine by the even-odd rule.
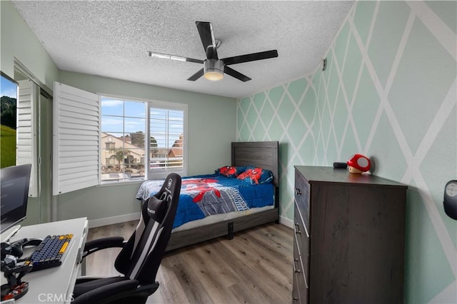
[[[100,181],[184,173],[185,117],[186,107],[173,103],[101,97]]]

